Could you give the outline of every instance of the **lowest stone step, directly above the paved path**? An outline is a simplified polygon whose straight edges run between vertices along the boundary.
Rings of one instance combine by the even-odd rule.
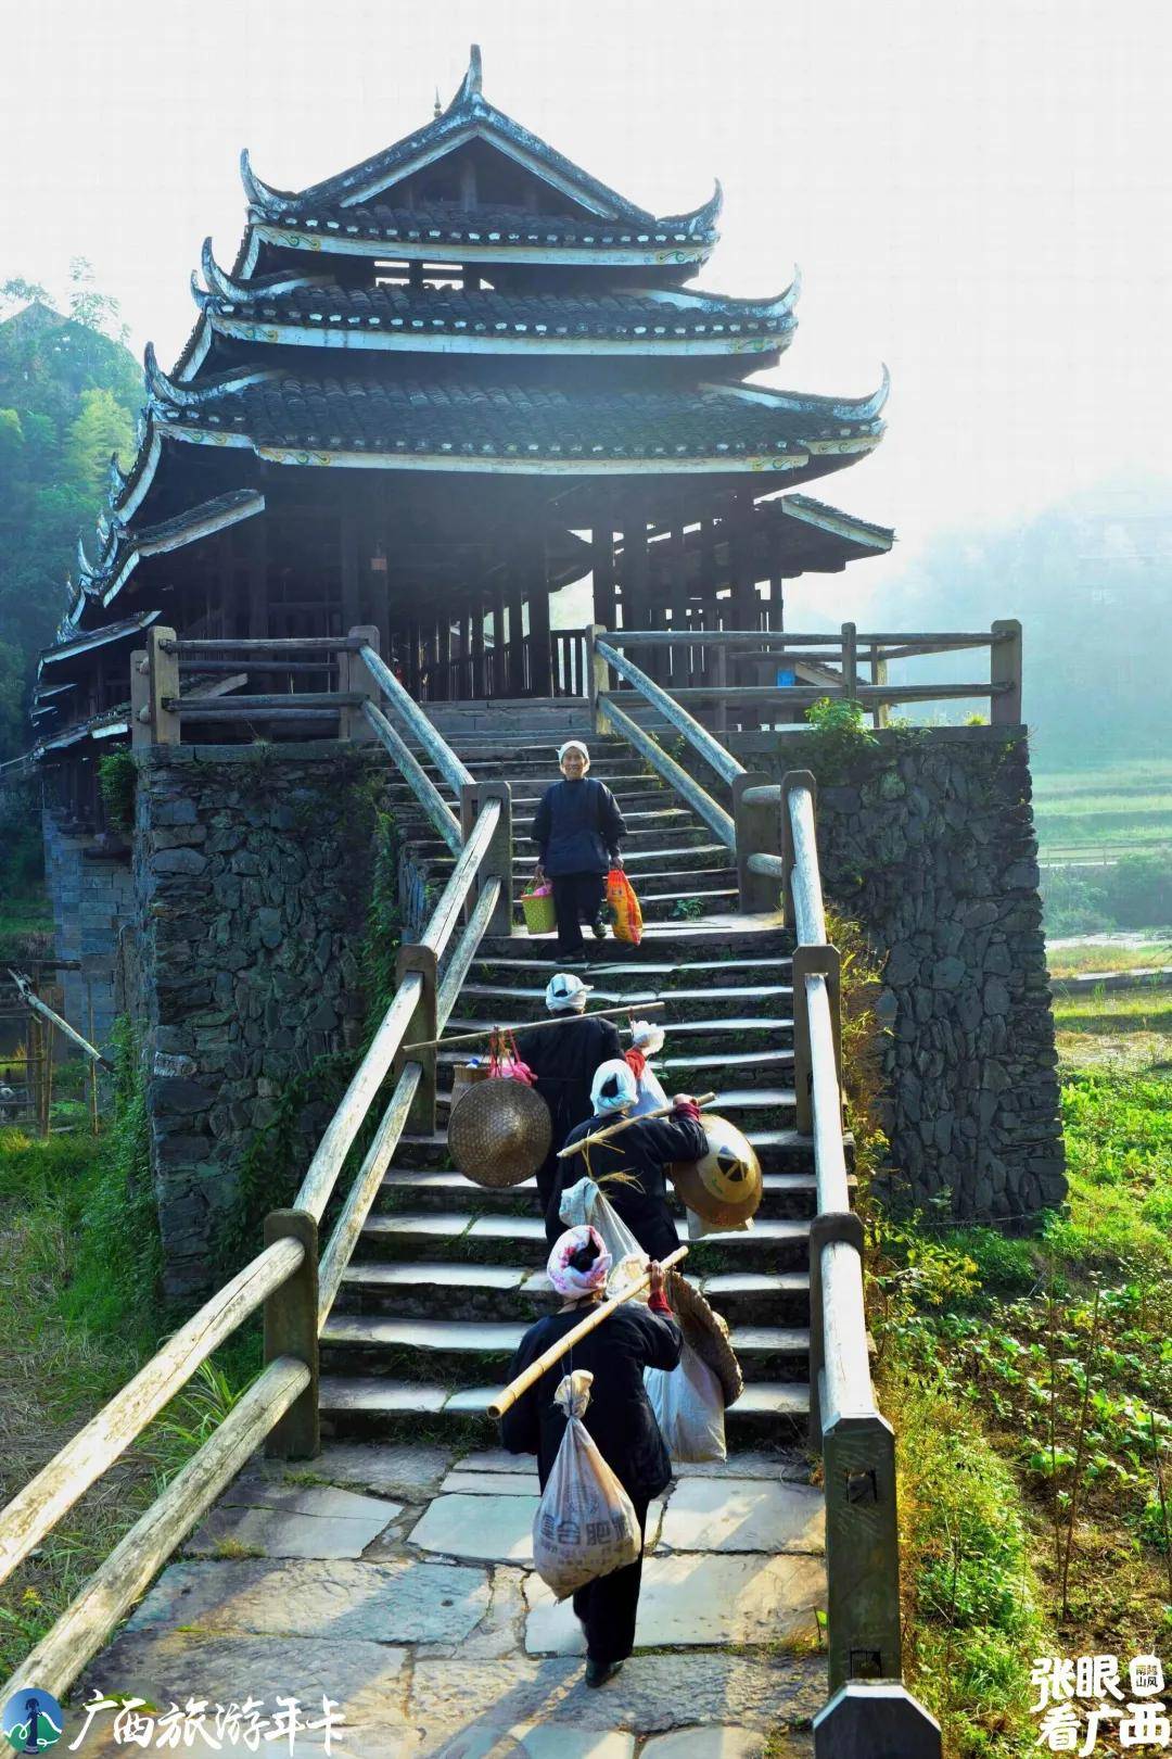
[[[323,1374],[320,1409],[323,1434],[336,1439],[418,1437],[423,1420],[460,1437],[492,1442],[499,1425],[488,1402],[499,1386],[452,1390],[427,1381],[390,1381],[381,1376]],[[724,1414],[729,1449],[754,1442],[780,1442],[805,1435],[810,1388],[803,1381],[768,1381],[747,1386]]]

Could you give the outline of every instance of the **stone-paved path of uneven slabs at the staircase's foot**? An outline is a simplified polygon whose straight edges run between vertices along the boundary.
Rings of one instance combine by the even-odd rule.
[[[587,1690],[571,1608],[532,1571],[532,1460],[392,1442],[332,1442],[311,1469],[257,1458],[74,1697],[251,1692],[262,1715],[290,1696],[313,1717],[327,1694],[351,1759],[805,1759],[826,1696],[807,1478],[778,1451],[682,1467],[648,1518],[636,1653]],[[127,1750],[109,1717],[83,1747]]]

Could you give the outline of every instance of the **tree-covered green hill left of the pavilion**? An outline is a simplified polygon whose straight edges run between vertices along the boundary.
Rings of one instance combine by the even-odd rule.
[[[142,371],[121,341],[44,299],[0,322],[0,758],[30,744],[26,688],[65,610],[77,533],[134,452]]]

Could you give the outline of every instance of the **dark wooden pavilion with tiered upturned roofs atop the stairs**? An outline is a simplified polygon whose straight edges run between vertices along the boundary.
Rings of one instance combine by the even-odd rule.
[[[79,542],[40,755],[125,734],[155,619],[369,623],[416,695],[548,697],[582,690],[550,630],[569,582],[592,577],[608,628],[780,628],[787,577],[891,545],[784,493],[879,443],[887,376],[857,399],[750,380],[792,339],[798,281],[685,285],[719,185],[689,213],[636,208],[497,111],[476,47],[448,107],[364,164],[300,192],[248,153],[241,171],[235,260],[204,246],[170,373],[148,347],[137,456],[111,461],[93,559]]]

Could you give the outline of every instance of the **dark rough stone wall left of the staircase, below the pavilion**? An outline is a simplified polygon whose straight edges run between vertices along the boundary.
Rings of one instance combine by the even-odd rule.
[[[362,785],[383,767],[369,748],[325,741],[139,758],[144,1061],[170,1295],[221,1281],[209,1252],[246,1147],[295,1077],[360,1040]],[[316,1142],[330,1110],[311,1096],[300,1133]]]

